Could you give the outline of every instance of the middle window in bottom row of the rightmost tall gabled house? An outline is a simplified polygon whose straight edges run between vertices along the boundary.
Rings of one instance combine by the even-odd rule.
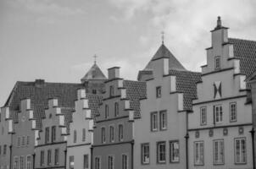
[[[224,164],[224,140],[214,140],[214,164]]]

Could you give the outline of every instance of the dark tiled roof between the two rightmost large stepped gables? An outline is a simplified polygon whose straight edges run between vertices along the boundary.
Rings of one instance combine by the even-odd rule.
[[[201,73],[170,70],[176,76],[176,90],[183,93],[183,109],[192,110],[192,99],[197,98],[197,82],[201,81]]]

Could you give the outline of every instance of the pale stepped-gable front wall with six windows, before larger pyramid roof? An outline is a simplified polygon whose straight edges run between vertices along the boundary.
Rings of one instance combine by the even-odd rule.
[[[169,62],[167,62],[169,63]],[[142,117],[135,120],[135,168],[186,168],[186,112],[178,112],[179,99],[177,93],[171,93],[170,76],[164,75],[164,59],[153,62],[153,79],[147,81],[147,99],[141,101]],[[161,86],[161,97],[156,98],[156,87]],[[183,104],[183,103],[182,103]],[[167,129],[151,131],[151,112],[167,111]],[[178,140],[180,161],[170,162],[170,141]],[[157,143],[166,144],[166,161],[157,162]],[[142,144],[149,143],[149,164],[142,164]]]

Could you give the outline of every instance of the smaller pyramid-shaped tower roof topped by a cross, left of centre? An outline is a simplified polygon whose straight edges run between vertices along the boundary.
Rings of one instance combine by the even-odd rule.
[[[86,75],[81,79],[81,81],[92,80],[92,79],[107,79],[103,74],[102,70],[97,66],[96,63],[92,65],[92,68],[86,73]]]

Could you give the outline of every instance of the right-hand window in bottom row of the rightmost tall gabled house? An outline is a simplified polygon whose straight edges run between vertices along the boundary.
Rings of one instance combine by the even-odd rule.
[[[235,139],[235,163],[245,164],[246,158],[246,139]]]

